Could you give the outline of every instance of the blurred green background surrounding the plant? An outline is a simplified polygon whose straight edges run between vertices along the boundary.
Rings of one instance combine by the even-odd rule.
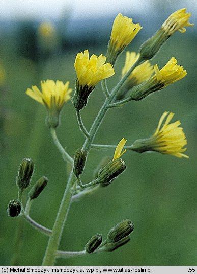
[[[134,22],[141,16],[143,26],[128,50],[137,51],[139,45],[160,27],[163,19],[183,7],[175,6],[173,10],[166,7],[165,12],[164,6],[158,6],[158,13],[144,17],[142,14],[124,14],[131,16]],[[167,14],[164,18],[163,13]],[[157,20],[151,22],[154,16]],[[45,126],[45,109],[27,97],[25,90],[32,85],[39,86],[42,79],[69,80],[74,88],[76,54],[85,49],[89,49],[90,54],[105,54],[113,18],[105,18],[106,30],[103,35],[99,33],[99,39],[97,35],[92,36],[93,32],[87,34],[86,39],[73,33],[71,38],[63,32],[62,24],[56,25],[55,38],[46,43],[54,42],[49,48],[39,39],[39,22],[20,20],[14,28],[5,28],[1,32],[0,64],[5,71],[0,90],[1,265],[40,265],[48,241],[23,219],[7,216],[9,200],[17,198],[15,177],[21,159],[30,157],[35,163],[32,184],[42,175],[49,178],[46,189],[32,206],[31,217],[50,229],[67,181],[66,164]],[[196,19],[195,14],[190,22],[193,18]],[[150,28],[148,20],[152,23]],[[68,21],[65,19],[65,29]],[[146,100],[111,109],[95,139],[95,143],[116,145],[124,136],[129,145],[152,134],[165,110],[173,111],[173,121],[180,120],[184,128],[188,140],[185,154],[190,158],[127,151],[123,156],[126,172],[110,186],[71,205],[60,249],[82,250],[92,235],[101,233],[105,238],[112,226],[127,218],[135,225],[130,242],[111,253],[59,259],[57,265],[196,265],[196,42],[195,26],[187,29],[185,34],[176,33],[171,37],[151,62],[161,68],[174,56],[188,75]],[[116,74],[108,80],[109,87],[118,82],[124,58],[125,53],[117,62]],[[103,100],[98,84],[88,106],[82,111],[87,128]],[[65,104],[57,133],[70,155],[83,144],[71,101]],[[91,151],[83,181],[90,181],[100,160],[113,154],[112,150]],[[16,241],[17,227],[20,237]]]

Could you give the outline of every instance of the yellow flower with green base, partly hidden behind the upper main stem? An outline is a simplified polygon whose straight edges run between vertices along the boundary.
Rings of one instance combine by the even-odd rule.
[[[139,53],[136,54],[135,52],[126,52],[125,65],[122,69],[122,77],[128,72],[128,70],[130,70],[131,66],[138,60],[138,58]],[[118,100],[123,99],[129,89],[149,79],[153,72],[154,68],[149,61],[146,61],[143,64],[140,64],[137,67],[135,67],[135,69],[126,79],[122,88],[117,93],[116,98]]]

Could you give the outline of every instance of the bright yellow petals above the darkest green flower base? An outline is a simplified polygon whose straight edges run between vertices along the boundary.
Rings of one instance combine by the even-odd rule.
[[[94,87],[98,82],[115,74],[110,63],[106,63],[106,57],[102,54],[92,55],[89,59],[89,52],[77,54],[74,67],[77,74],[77,81],[81,86]]]

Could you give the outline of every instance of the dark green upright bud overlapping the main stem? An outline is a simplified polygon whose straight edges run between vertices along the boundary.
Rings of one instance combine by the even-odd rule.
[[[86,163],[87,151],[81,148],[77,149],[74,155],[74,167],[73,172],[76,176],[81,175]]]

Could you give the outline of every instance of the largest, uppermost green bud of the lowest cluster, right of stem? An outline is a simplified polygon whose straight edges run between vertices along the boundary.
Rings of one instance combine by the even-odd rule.
[[[134,226],[130,220],[123,220],[109,231],[107,238],[110,242],[118,242],[131,234],[133,229]]]

